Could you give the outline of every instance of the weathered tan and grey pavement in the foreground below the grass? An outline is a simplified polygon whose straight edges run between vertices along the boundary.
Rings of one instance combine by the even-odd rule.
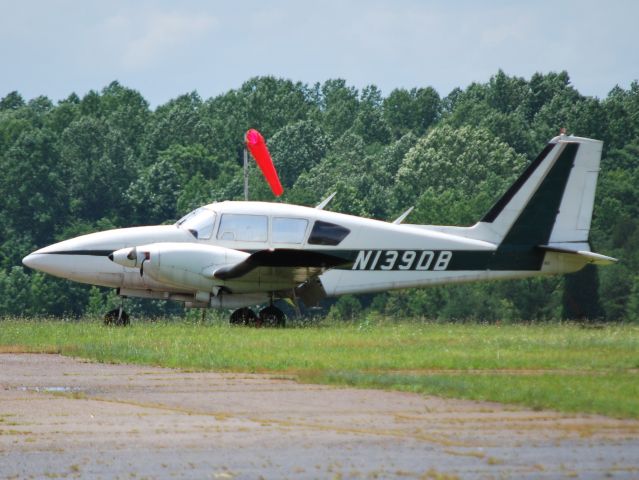
[[[636,478],[639,422],[0,354],[0,478]]]

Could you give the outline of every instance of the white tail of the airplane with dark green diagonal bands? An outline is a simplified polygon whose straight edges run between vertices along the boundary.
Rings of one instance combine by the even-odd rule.
[[[543,252],[551,270],[615,262],[588,243],[602,147],[589,138],[553,138],[476,225],[456,233],[497,244],[505,261]]]

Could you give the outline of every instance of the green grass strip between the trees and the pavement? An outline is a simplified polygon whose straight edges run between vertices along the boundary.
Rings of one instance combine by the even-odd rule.
[[[0,319],[2,351],[268,372],[303,382],[639,418],[637,325],[377,319],[279,330],[171,321],[113,328],[98,321]]]

